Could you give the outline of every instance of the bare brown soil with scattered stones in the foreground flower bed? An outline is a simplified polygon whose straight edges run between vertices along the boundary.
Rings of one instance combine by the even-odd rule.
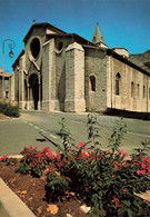
[[[62,201],[54,204],[47,203],[44,186],[47,184],[47,170],[54,169],[51,164],[43,172],[42,177],[34,178],[30,175],[16,172],[17,165],[0,165],[0,177],[17,194],[20,199],[31,209],[37,217],[84,217],[80,210],[82,203],[78,200],[73,193],[67,193]],[[54,206],[50,206],[54,205]]]

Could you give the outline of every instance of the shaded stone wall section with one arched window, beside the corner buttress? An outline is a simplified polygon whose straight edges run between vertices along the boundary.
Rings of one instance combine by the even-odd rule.
[[[102,49],[86,49],[86,108],[107,109],[107,56]],[[96,91],[90,90],[90,76],[96,77]]]

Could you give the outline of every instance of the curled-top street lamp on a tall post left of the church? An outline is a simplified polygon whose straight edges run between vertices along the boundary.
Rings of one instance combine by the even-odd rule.
[[[12,49],[16,47],[16,43],[11,39],[4,39],[2,42],[2,103],[4,103],[4,98],[6,98],[6,91],[4,91],[4,42],[10,41],[8,43],[8,47],[10,48],[9,57],[13,57]]]

